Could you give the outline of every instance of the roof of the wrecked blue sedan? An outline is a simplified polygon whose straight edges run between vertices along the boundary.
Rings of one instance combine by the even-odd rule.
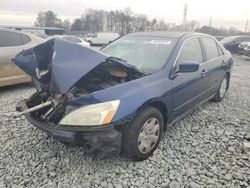
[[[150,32],[136,32],[128,34],[127,36],[142,36],[142,37],[169,37],[169,38],[181,38],[183,36],[209,36],[203,33],[195,32],[168,32],[168,31],[150,31]]]

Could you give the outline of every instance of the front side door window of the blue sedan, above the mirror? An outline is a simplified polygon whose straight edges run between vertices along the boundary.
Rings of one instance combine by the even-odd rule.
[[[174,72],[178,71],[179,65],[185,61],[203,62],[201,46],[198,38],[189,39],[184,43],[175,64]]]

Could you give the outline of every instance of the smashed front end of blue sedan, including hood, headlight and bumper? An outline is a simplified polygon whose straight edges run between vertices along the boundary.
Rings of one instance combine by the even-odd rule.
[[[121,133],[114,126],[117,123],[112,122],[119,102],[118,105],[114,101],[76,105],[74,101],[142,77],[135,67],[124,60],[59,39],[25,50],[12,62],[32,76],[36,85],[36,92],[18,104],[20,115],[25,114],[36,127],[63,142],[84,144],[91,153],[99,152],[104,157],[120,152]],[[99,107],[94,108],[98,102]],[[100,117],[92,118],[93,109],[106,110],[107,114],[100,112]],[[68,118],[77,110],[81,111],[80,115]],[[79,118],[83,120],[79,121]],[[98,121],[97,118],[102,119]]]

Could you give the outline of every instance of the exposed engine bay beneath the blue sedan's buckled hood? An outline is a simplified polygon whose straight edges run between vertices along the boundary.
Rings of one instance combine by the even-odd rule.
[[[51,101],[50,105],[31,112],[31,115],[37,120],[57,124],[63,116],[73,110],[67,108],[66,103],[68,101],[140,77],[142,77],[141,73],[131,71],[123,65],[107,60],[84,75],[69,92],[65,94],[54,94],[48,91],[39,92],[39,90],[37,90],[37,92],[27,100],[26,104],[29,108],[32,108]]]

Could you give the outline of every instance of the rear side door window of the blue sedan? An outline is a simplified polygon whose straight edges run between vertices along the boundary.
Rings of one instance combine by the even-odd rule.
[[[211,38],[201,38],[204,45],[207,61],[219,57],[218,47],[216,42]]]

